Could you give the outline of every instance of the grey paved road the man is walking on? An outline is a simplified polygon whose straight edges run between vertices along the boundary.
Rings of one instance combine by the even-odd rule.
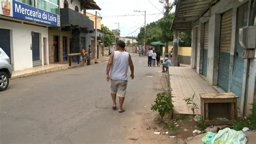
[[[111,109],[106,62],[11,80],[0,93],[0,143],[157,142],[146,127],[161,91],[160,68],[132,58],[135,78],[129,80],[124,113]]]

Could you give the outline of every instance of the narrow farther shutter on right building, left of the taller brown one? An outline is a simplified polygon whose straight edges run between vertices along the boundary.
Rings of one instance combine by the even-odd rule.
[[[209,22],[204,25],[204,49],[203,49],[203,75],[207,76],[207,50],[208,50]]]

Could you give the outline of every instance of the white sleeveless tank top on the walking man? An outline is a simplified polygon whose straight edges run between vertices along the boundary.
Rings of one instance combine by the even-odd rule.
[[[129,67],[129,53],[114,51],[113,63],[110,71],[110,78],[113,80],[127,80]]]

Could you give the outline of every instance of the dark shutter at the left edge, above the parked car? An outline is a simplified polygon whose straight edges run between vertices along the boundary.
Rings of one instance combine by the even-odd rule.
[[[11,49],[10,49],[10,31],[6,29],[0,29],[0,47],[4,50],[4,52],[11,57]]]

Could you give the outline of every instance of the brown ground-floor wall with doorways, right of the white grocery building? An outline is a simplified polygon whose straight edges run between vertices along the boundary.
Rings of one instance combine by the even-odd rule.
[[[69,53],[69,43],[70,38],[72,37],[70,31],[60,31],[60,30],[49,30],[49,62],[50,64],[54,63],[54,49],[53,47],[53,36],[58,36],[58,48],[59,48],[59,62],[63,62],[63,37],[66,37],[66,47],[67,52]]]

